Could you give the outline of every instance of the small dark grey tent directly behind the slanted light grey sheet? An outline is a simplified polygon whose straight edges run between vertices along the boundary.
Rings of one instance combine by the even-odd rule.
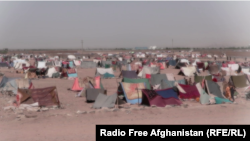
[[[86,100],[87,102],[94,102],[99,93],[107,94],[106,90],[104,89],[86,89]]]

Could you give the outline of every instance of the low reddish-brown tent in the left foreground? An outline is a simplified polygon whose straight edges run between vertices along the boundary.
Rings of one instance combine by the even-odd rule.
[[[60,107],[56,86],[46,88],[18,89],[19,108],[39,111],[41,107]]]

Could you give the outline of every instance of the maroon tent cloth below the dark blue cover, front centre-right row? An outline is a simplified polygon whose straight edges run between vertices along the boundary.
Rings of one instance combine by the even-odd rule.
[[[165,107],[166,105],[181,105],[182,102],[179,99],[170,97],[164,98],[157,94],[154,90],[143,89],[142,103],[149,106]]]

